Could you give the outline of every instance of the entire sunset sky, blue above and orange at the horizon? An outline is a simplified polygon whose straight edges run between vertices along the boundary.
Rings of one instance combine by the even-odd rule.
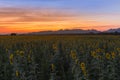
[[[120,0],[0,0],[0,34],[120,28]]]

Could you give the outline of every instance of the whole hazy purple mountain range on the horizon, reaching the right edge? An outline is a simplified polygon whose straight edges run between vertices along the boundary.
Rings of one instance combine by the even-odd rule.
[[[40,31],[28,33],[28,35],[48,35],[48,34],[100,34],[100,33],[120,33],[120,28],[109,29],[107,31],[98,31],[98,30],[82,30],[82,29],[72,29],[72,30],[58,30],[58,31]]]

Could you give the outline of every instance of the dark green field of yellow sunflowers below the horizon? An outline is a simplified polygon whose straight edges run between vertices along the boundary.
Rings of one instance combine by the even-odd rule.
[[[0,80],[120,80],[120,36],[0,36]]]

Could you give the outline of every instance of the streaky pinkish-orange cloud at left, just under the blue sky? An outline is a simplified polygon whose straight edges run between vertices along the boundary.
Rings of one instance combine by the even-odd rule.
[[[65,21],[75,17],[73,12],[55,9],[0,8],[0,22]]]

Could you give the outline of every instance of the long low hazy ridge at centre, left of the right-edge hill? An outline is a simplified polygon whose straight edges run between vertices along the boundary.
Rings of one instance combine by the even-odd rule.
[[[58,31],[41,31],[41,32],[32,32],[28,33],[29,35],[47,35],[47,34],[96,34],[100,33],[97,30],[82,30],[82,29],[73,29],[73,30],[58,30]]]

